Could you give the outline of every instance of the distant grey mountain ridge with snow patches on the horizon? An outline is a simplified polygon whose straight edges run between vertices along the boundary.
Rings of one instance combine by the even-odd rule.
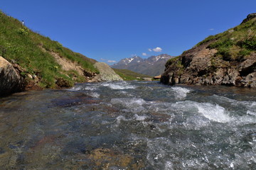
[[[173,58],[173,56],[166,54],[153,55],[147,59],[134,56],[131,58],[124,58],[117,62],[117,64],[113,64],[111,67],[114,69],[129,69],[133,72],[154,77],[164,72],[164,64],[171,58]]]

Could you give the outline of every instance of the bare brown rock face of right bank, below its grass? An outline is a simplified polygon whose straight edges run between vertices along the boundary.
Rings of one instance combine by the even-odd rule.
[[[215,57],[217,50],[208,49],[209,44],[193,47],[166,63],[161,82],[256,87],[256,53],[243,62],[228,62]]]

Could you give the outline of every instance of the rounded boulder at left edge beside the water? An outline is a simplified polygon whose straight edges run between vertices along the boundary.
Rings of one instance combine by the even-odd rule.
[[[23,77],[10,62],[0,57],[0,96],[21,91],[23,88]]]

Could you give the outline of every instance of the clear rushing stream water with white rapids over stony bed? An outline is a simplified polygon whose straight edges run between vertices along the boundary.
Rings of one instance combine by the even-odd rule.
[[[0,99],[0,169],[256,169],[256,90],[78,84]]]

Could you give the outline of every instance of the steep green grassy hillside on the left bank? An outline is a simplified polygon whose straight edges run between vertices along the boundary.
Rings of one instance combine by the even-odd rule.
[[[38,86],[43,88],[55,88],[57,79],[62,79],[70,86],[75,81],[85,81],[85,77],[75,70],[64,71],[51,55],[53,52],[80,64],[87,72],[97,72],[93,67],[95,60],[73,52],[48,37],[34,33],[17,19],[0,11],[0,55],[9,62],[21,66],[22,75],[35,74],[40,79]]]

